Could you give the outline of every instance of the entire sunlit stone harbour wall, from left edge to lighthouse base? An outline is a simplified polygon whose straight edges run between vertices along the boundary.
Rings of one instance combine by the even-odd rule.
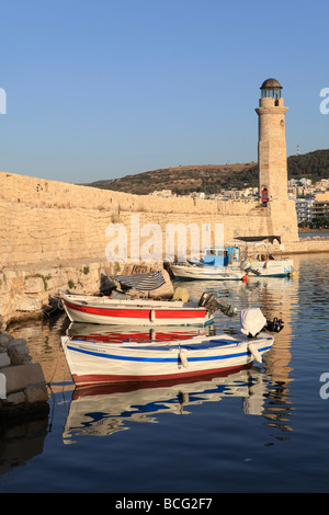
[[[329,251],[328,239],[298,240],[294,203],[287,199],[263,208],[251,201],[161,198],[0,172],[0,330],[12,320],[52,312],[59,290],[97,294],[102,275],[128,274],[135,265],[138,273],[161,267],[138,255],[131,260],[131,249],[149,240],[143,228],[154,225],[161,230],[164,258],[168,224],[194,224],[200,234],[207,225],[211,244],[216,225],[223,224],[226,242],[275,234],[282,245],[271,251],[280,255]],[[125,263],[106,259],[113,239],[107,228],[115,225],[126,229]],[[188,251],[191,243],[188,234]]]

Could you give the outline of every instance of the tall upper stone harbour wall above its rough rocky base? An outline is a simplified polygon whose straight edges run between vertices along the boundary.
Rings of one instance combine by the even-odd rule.
[[[226,241],[271,234],[277,225],[283,238],[297,239],[291,209],[285,203],[274,214],[252,201],[159,198],[0,172],[0,266],[104,259],[111,240],[106,229],[113,224],[127,228],[129,249],[133,214],[139,217],[140,228],[157,224],[163,237],[166,224],[193,222],[200,229],[208,224],[212,244],[215,224],[224,224]]]

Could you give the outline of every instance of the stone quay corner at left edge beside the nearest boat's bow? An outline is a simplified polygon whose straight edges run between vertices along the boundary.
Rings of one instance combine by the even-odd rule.
[[[0,420],[26,410],[48,411],[42,367],[32,363],[26,341],[0,332]]]

